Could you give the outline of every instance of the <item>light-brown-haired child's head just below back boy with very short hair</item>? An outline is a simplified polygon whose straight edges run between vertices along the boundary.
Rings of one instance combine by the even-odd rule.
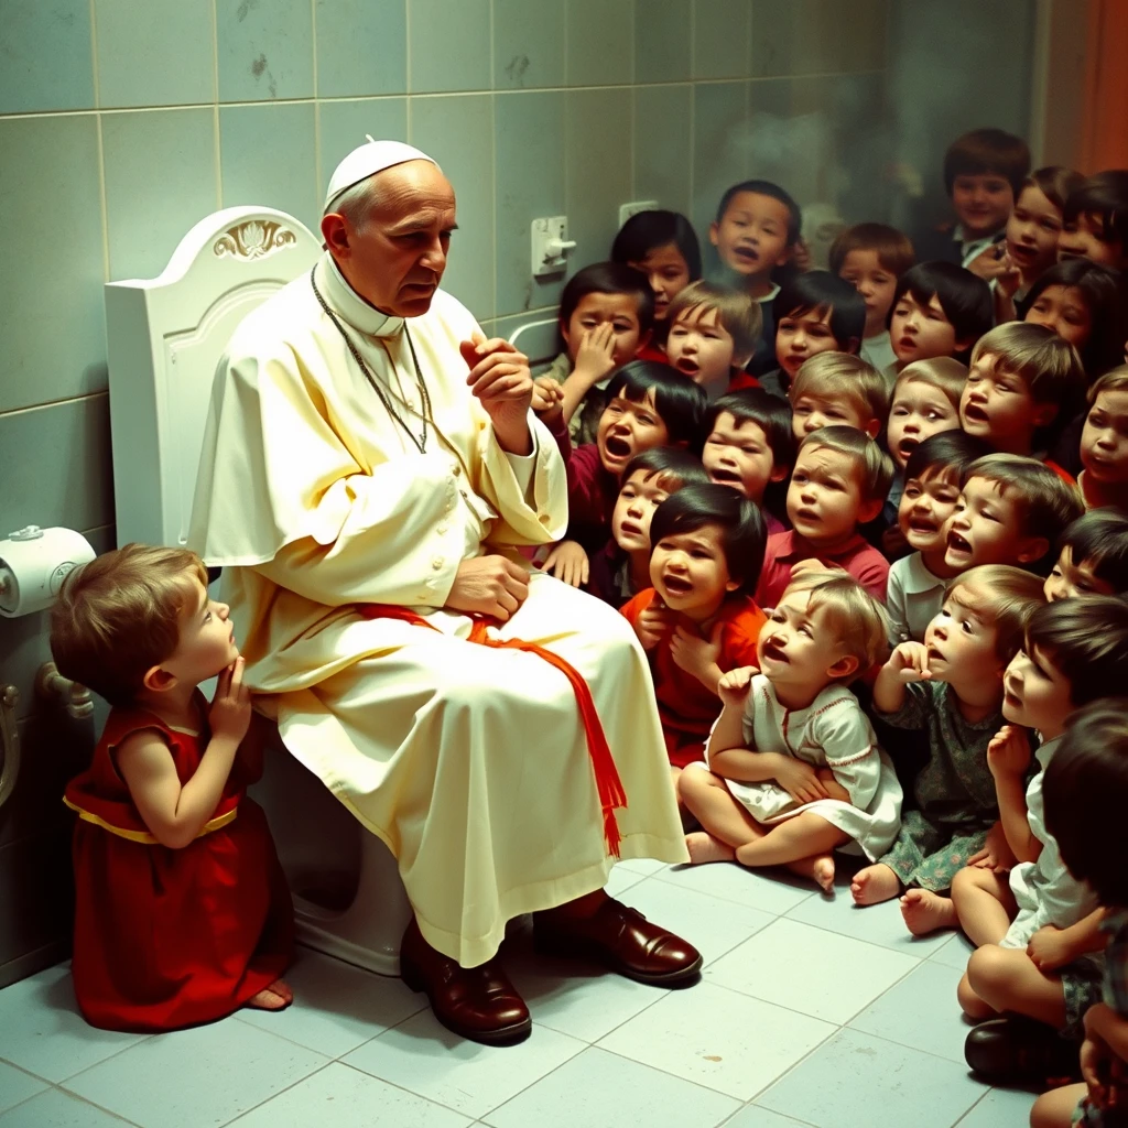
[[[757,381],[741,371],[760,340],[760,307],[742,290],[690,282],[667,314],[666,359],[710,399]]]

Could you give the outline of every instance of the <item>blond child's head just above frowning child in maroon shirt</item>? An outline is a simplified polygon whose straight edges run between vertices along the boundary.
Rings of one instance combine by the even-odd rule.
[[[787,398],[797,442],[823,426],[852,426],[876,439],[889,415],[884,377],[852,353],[821,352],[804,361]]]

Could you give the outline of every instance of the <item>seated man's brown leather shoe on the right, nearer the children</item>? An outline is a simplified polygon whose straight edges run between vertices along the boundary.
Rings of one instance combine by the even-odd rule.
[[[590,917],[537,913],[534,941],[545,954],[584,955],[655,987],[686,987],[696,981],[702,967],[693,944],[613,898]]]

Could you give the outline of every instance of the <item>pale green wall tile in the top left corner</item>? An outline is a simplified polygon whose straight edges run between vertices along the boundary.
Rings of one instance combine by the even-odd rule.
[[[90,0],[5,0],[0,114],[92,105]]]

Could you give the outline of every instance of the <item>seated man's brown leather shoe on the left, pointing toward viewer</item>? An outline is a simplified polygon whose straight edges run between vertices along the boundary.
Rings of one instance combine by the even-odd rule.
[[[426,992],[434,1016],[461,1038],[511,1046],[532,1030],[525,999],[496,960],[460,967],[423,938],[414,917],[399,945],[399,975],[412,990]]]

